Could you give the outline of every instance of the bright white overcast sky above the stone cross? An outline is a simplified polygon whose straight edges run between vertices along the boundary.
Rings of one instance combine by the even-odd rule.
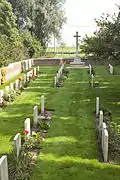
[[[62,38],[69,45],[75,45],[73,36],[76,31],[82,37],[87,33],[91,35],[96,29],[94,18],[99,18],[102,13],[118,13],[115,3],[120,0],[66,0],[65,12],[67,24],[62,30]]]

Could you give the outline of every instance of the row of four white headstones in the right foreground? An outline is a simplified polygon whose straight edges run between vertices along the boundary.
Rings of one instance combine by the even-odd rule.
[[[101,147],[103,152],[104,162],[108,161],[108,130],[106,128],[106,123],[103,122],[103,111],[99,110],[99,97],[96,97],[96,115],[99,115],[99,134],[101,136]]]

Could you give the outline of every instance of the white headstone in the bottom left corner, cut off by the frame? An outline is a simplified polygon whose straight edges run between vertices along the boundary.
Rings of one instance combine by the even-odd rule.
[[[8,180],[7,156],[0,158],[0,180]]]

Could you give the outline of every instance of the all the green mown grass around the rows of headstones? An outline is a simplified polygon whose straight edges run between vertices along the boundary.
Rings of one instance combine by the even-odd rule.
[[[0,113],[0,154],[10,153],[13,138],[23,132],[24,120],[33,118],[33,107],[55,109],[51,128],[37,158],[31,180],[119,180],[120,166],[98,162],[93,111],[95,98],[120,117],[120,75],[110,75],[105,67],[96,67],[101,88],[90,89],[87,70],[70,70],[63,88],[52,87],[58,67],[41,67],[43,74],[17,100]],[[119,70],[119,68],[118,68]]]

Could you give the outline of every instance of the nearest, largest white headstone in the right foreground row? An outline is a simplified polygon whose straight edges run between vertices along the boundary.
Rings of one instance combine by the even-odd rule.
[[[104,141],[103,141],[103,158],[104,162],[108,161],[108,131],[107,129],[104,129]]]

